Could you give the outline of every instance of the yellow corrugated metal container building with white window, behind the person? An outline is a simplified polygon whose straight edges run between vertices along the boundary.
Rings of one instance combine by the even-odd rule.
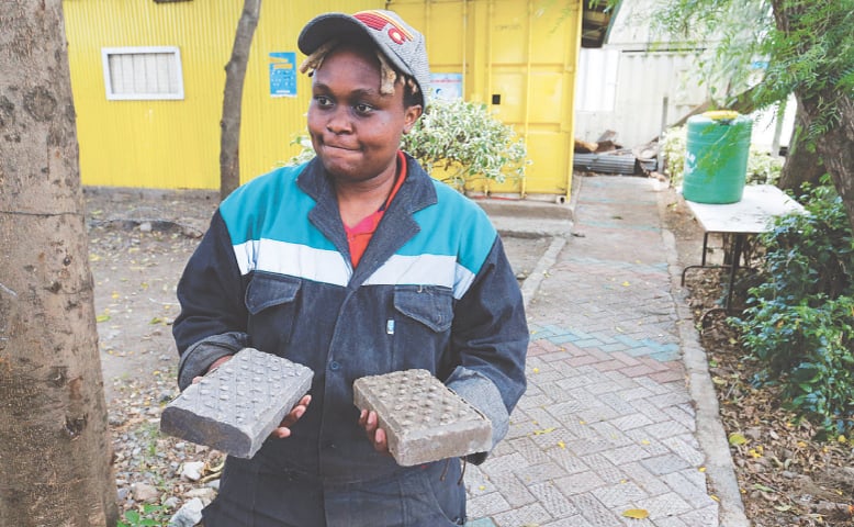
[[[83,184],[217,189],[224,67],[243,1],[63,8]],[[265,1],[244,85],[244,181],[297,152],[290,143],[305,131],[310,101],[308,79],[294,69],[302,26],[322,12],[364,9],[394,10],[423,31],[436,86],[490,104],[526,138],[526,181],[481,190],[569,197],[581,24],[573,0]]]

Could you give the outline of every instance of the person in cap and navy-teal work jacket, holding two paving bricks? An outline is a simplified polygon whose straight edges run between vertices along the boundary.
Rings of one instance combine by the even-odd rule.
[[[490,418],[494,445],[525,391],[521,294],[481,209],[398,149],[427,103],[424,37],[389,11],[329,13],[299,46],[317,157],[221,204],[173,333],[181,389],[248,346],[314,380],[252,459],[227,459],[205,526],[463,525],[460,461],[397,466],[352,382],[429,370]]]

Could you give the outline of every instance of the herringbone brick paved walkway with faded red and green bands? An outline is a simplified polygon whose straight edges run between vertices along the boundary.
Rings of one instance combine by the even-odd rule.
[[[467,469],[471,527],[719,525],[666,253],[652,180],[583,179],[573,235],[528,305],[528,391]]]

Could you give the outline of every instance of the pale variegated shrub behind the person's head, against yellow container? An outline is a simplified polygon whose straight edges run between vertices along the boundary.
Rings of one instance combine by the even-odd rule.
[[[307,136],[295,137],[291,145],[299,145],[301,150],[284,165],[314,157]],[[463,100],[430,102],[413,130],[404,135],[401,148],[417,159],[427,173],[458,189],[482,179],[521,179],[530,164],[525,142],[512,126],[490,114],[485,104]]]

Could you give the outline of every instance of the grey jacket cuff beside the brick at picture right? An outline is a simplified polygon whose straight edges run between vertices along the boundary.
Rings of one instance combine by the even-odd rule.
[[[457,392],[457,395],[474,406],[492,423],[492,448],[504,439],[510,426],[510,416],[504,406],[498,388],[485,375],[462,366],[458,366],[445,384]],[[492,448],[490,450],[492,450]],[[477,452],[465,459],[474,464],[481,464],[490,452]]]

